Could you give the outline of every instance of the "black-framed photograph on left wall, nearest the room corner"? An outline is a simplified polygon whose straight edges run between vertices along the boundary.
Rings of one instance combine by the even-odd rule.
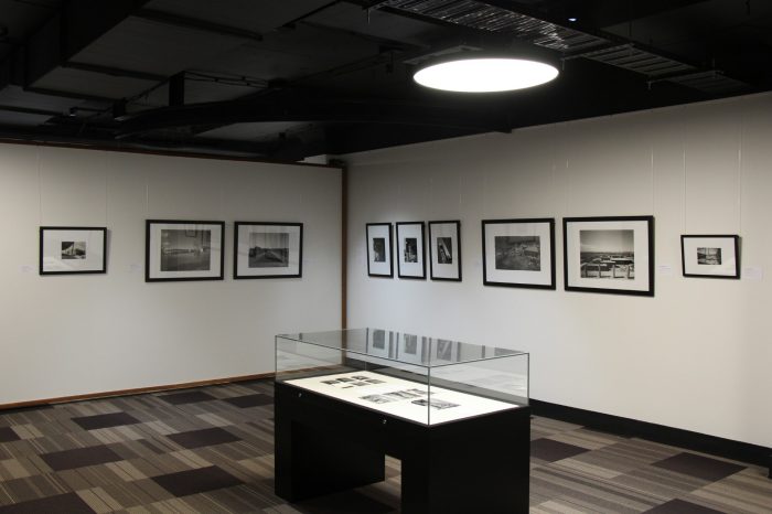
[[[302,259],[302,223],[234,224],[233,278],[298,278]]]

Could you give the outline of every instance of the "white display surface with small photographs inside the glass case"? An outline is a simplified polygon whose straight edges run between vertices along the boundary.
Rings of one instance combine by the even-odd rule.
[[[285,383],[425,425],[518,407],[433,385],[430,388],[428,384],[375,372],[356,371]]]

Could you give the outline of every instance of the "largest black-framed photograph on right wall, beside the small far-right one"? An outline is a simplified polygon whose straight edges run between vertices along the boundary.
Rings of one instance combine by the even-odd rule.
[[[654,217],[562,219],[567,291],[654,296]]]

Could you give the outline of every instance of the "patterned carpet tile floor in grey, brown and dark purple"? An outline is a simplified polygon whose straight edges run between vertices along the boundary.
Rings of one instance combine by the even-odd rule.
[[[390,458],[378,484],[292,505],[277,497],[272,410],[272,384],[258,381],[0,413],[0,514],[398,512]],[[769,514],[765,472],[532,422],[532,513]]]

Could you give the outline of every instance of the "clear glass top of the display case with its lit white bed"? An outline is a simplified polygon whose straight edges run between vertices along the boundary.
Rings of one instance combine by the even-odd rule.
[[[276,336],[276,381],[422,425],[528,405],[528,354],[382,329]]]

